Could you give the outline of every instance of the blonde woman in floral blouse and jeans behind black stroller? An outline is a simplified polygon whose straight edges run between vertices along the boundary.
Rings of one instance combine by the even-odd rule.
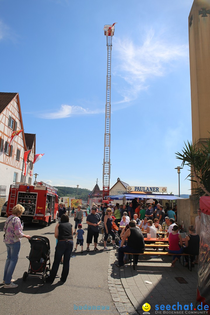
[[[12,209],[12,215],[7,218],[3,229],[5,232],[4,243],[7,247],[7,260],[3,276],[3,284],[6,289],[18,287],[18,284],[13,283],[12,275],[20,253],[20,241],[23,237],[30,239],[30,235],[23,234],[23,227],[19,218],[24,211],[25,208],[17,204]]]

